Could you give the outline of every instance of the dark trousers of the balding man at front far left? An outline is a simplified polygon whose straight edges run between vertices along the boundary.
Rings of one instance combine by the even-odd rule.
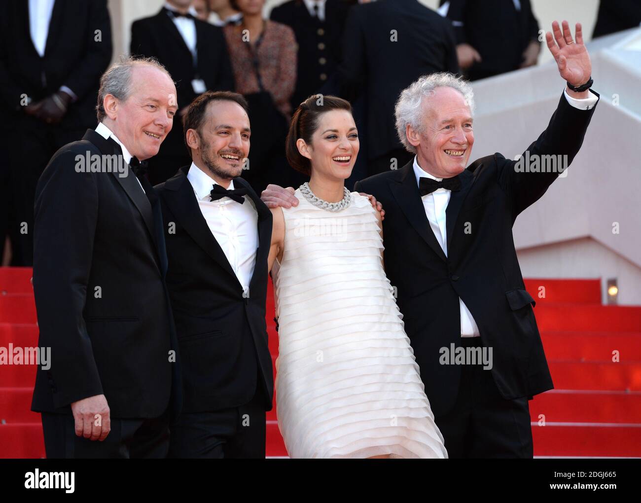
[[[42,413],[47,459],[53,458],[167,458],[169,409],[153,419],[112,418],[103,441],[76,436],[72,415]]]

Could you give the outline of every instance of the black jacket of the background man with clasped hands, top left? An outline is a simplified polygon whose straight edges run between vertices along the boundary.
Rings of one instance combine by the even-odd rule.
[[[56,0],[42,58],[31,41],[29,2],[0,2],[0,111],[5,120],[24,113],[22,94],[35,103],[67,86],[78,101],[60,126],[95,126],[99,80],[111,58],[106,0]]]

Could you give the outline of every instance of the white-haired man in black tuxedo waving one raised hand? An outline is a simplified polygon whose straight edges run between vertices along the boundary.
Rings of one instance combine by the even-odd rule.
[[[569,87],[529,156],[579,151],[598,95],[581,26],[563,21],[547,45]],[[556,44],[554,43],[556,40]],[[589,82],[588,82],[589,81]],[[385,271],[397,288],[420,374],[450,458],[531,458],[528,397],[553,388],[512,239],[512,226],[558,172],[519,172],[494,154],[465,169],[474,143],[472,89],[451,74],[419,79],[396,106],[401,141],[416,156],[356,183],[385,208]],[[271,189],[271,190],[270,190]],[[296,204],[273,186],[268,204]],[[492,348],[492,368],[442,362],[443,349]]]

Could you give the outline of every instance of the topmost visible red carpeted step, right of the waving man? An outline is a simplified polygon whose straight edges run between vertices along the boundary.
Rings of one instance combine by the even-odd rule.
[[[601,279],[525,279],[525,288],[538,304],[601,304]],[[544,297],[542,297],[544,295]]]

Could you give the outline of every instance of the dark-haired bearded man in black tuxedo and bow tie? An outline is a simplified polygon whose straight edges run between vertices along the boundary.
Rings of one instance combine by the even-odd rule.
[[[264,458],[274,390],[265,324],[272,214],[240,177],[247,102],[206,92],[190,104],[184,130],[192,163],[156,186],[183,357],[171,456]]]

